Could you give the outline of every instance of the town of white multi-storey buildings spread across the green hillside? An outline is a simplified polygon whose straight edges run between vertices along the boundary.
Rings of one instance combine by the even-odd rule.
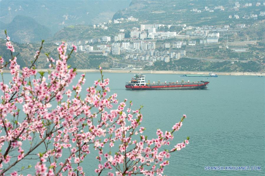
[[[265,11],[259,14],[245,14],[239,16],[237,13],[240,8],[247,8],[254,4],[239,4],[235,2],[235,14],[228,16],[228,19],[252,19],[256,20],[265,15]],[[257,2],[256,6],[265,6],[265,3]],[[192,9],[192,12],[201,13],[202,11],[214,12],[225,11],[223,6],[215,6],[213,9],[205,6],[204,9]],[[117,29],[118,32],[111,33],[110,36],[101,36],[99,38],[91,38],[89,40],[67,41],[66,46],[69,50],[72,45],[77,46],[77,52],[85,52],[89,55],[111,56],[114,60],[119,56],[121,61],[130,63],[141,63],[142,65],[153,66],[156,61],[169,62],[170,60],[178,60],[186,57],[189,51],[196,48],[218,45],[219,48],[229,49],[232,46],[232,52],[248,52],[248,48],[244,45],[251,44],[248,38],[242,45],[228,42],[229,33],[232,31],[240,31],[249,27],[246,24],[227,23],[224,25],[206,24],[201,26],[187,26],[186,24],[144,24],[133,16],[127,18],[119,18],[109,20],[108,22],[94,24],[93,29],[109,30],[110,26],[119,24],[135,23],[132,28]],[[177,27],[179,31],[171,30]],[[127,34],[126,34],[127,33]],[[220,41],[221,39],[221,41]],[[59,45],[61,41],[56,42]],[[254,41],[255,43],[255,41]],[[125,68],[134,67],[134,64],[128,64]]]

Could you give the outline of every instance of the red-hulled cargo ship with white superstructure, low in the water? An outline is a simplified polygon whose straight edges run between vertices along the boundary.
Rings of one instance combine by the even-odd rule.
[[[165,83],[161,83],[160,80],[157,83],[150,83],[150,81],[146,83],[145,75],[136,74],[131,81],[125,84],[125,88],[131,90],[206,89],[208,84],[209,81],[184,82],[184,80],[173,83],[167,83],[166,81]]]

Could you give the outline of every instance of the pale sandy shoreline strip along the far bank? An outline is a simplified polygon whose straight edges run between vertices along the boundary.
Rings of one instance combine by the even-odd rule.
[[[47,72],[48,70],[53,71],[53,69],[36,69],[37,71]],[[99,69],[77,69],[79,73],[99,73]],[[153,73],[153,74],[195,74],[195,75],[208,75],[210,72],[206,71],[158,71],[158,70],[104,70],[105,73]],[[3,73],[9,73],[9,70],[3,70]],[[265,76],[262,72],[213,72],[217,75],[232,75],[232,76]]]

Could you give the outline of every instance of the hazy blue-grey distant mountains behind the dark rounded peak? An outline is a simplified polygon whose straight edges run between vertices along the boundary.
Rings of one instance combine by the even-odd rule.
[[[29,16],[55,33],[64,26],[92,25],[112,19],[131,1],[0,1],[1,22],[10,23],[15,16]],[[1,27],[2,29],[2,27]]]

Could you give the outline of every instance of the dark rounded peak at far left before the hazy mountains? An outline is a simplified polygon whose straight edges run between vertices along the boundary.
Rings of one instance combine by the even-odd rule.
[[[39,42],[52,35],[51,30],[27,16],[15,16],[9,24],[2,26],[1,37],[4,35],[4,29],[7,30],[11,40],[19,43]]]

